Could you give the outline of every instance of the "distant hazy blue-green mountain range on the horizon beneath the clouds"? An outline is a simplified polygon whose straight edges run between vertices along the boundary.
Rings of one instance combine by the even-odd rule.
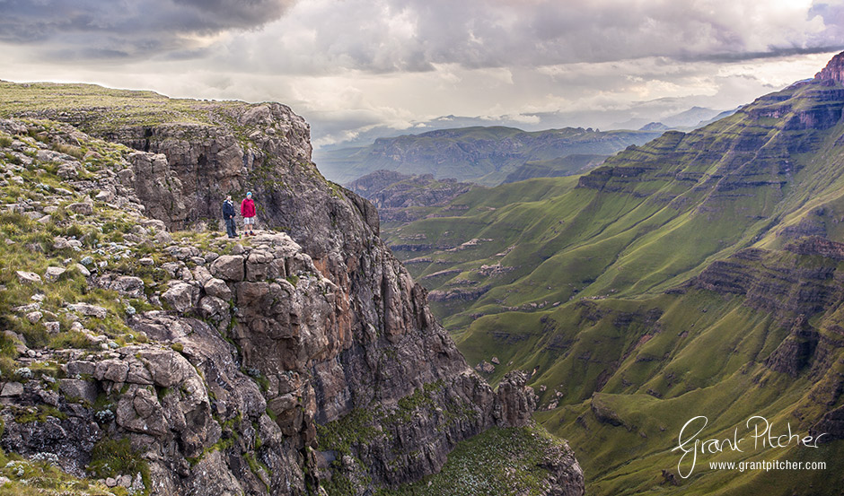
[[[375,170],[394,170],[495,186],[527,161],[610,155],[661,134],[582,127],[534,132],[503,126],[463,127],[379,138],[370,146],[320,152],[314,159],[326,178],[342,184]]]

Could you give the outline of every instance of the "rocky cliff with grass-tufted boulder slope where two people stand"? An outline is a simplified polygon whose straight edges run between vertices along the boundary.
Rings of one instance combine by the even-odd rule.
[[[354,494],[531,422],[526,377],[494,391],[467,367],[372,204],[321,178],[301,117],[179,105],[198,122],[60,105],[16,113],[72,126],[4,122],[6,248],[37,254],[4,273],[4,449],[153,494]],[[285,232],[176,232],[246,189]],[[558,491],[581,493],[558,453]]]

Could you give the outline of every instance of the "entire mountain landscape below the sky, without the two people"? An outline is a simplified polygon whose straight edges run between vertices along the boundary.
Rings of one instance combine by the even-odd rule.
[[[284,105],[0,82],[0,492],[839,494],[842,114],[844,53],[641,144],[383,140],[440,170],[380,222]]]

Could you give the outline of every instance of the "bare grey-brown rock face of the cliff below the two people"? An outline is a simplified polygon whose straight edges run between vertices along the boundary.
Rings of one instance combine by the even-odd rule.
[[[169,310],[127,321],[150,343],[66,364],[68,378],[89,384],[67,383],[66,395],[113,399],[105,412],[57,395],[72,414],[57,419],[54,437],[82,447],[69,469],[83,469],[98,439],[128,437],[150,464],[156,495],[303,494],[340,475],[363,494],[437,471],[457,442],[490,426],[530,422],[536,400],[525,376],[508,376],[496,392],[470,370],[425,290],[379,239],[372,204],[324,181],[309,161],[301,117],[277,104],[211,111],[233,118],[249,144],[222,125],[119,129],[105,137],[143,152],[104,190],[116,203],[128,192],[163,222],[150,224],[161,243],[175,238],[163,227],[217,218],[224,194],[246,188],[259,221],[289,235],[260,234],[229,255],[184,243],[163,250],[177,260],[161,265],[172,278],[160,294]],[[145,292],[136,279],[97,283]],[[22,404],[37,400],[22,394]],[[318,426],[374,411],[389,431],[350,441],[360,463],[319,468],[331,455]],[[21,425],[3,442],[43,451]]]

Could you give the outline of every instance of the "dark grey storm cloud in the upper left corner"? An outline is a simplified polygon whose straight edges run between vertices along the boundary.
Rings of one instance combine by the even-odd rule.
[[[0,42],[42,59],[178,54],[229,30],[277,20],[293,0],[0,0]],[[197,56],[203,55],[197,52]]]

